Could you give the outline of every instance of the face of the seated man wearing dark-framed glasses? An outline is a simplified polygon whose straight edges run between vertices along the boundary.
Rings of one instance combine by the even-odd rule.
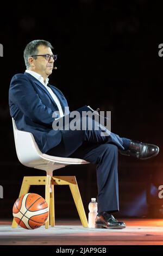
[[[45,45],[39,45],[37,47],[37,50],[38,50],[37,55],[42,55],[42,54],[52,55],[53,54],[51,48],[46,47]],[[46,58],[43,56],[37,56],[36,59],[33,58],[33,61],[32,61],[33,69],[32,70],[37,72],[38,74],[42,75],[44,78],[46,78],[52,74],[53,64],[54,64],[54,59],[52,57],[50,60],[46,60]]]

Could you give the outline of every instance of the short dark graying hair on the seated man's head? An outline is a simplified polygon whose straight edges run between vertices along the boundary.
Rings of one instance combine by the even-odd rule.
[[[46,47],[50,47],[51,49],[53,49],[53,46],[51,45],[51,43],[45,40],[34,40],[29,42],[26,45],[26,48],[24,49],[24,62],[26,64],[26,68],[29,67],[28,58],[38,53],[37,47],[39,45],[45,45]]]

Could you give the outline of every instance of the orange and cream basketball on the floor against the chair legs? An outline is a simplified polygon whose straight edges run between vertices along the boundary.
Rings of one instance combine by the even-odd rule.
[[[22,228],[35,229],[46,222],[49,209],[43,197],[39,194],[28,193],[16,200],[12,214]]]

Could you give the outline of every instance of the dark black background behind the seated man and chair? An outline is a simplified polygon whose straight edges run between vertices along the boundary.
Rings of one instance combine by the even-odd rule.
[[[1,3],[2,4],[2,3]],[[111,130],[121,137],[157,144],[160,154],[141,161],[119,157],[118,216],[162,217],[162,8],[147,0],[15,2],[1,5],[0,216],[12,217],[24,175],[45,175],[18,162],[8,107],[10,80],[24,72],[23,50],[29,41],[44,39],[58,54],[50,83],[67,98],[71,110],[83,105],[111,111]],[[96,167],[69,166],[55,175],[76,175],[87,214],[97,196]],[[30,192],[44,197],[43,187]],[[108,195],[109,200],[109,195]],[[68,187],[57,187],[57,218],[78,218]]]

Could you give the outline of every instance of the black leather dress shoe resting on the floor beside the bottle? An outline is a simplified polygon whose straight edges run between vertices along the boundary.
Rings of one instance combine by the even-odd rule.
[[[103,211],[101,215],[96,216],[95,228],[122,229],[126,228],[126,224],[124,222],[117,221],[111,214]]]

